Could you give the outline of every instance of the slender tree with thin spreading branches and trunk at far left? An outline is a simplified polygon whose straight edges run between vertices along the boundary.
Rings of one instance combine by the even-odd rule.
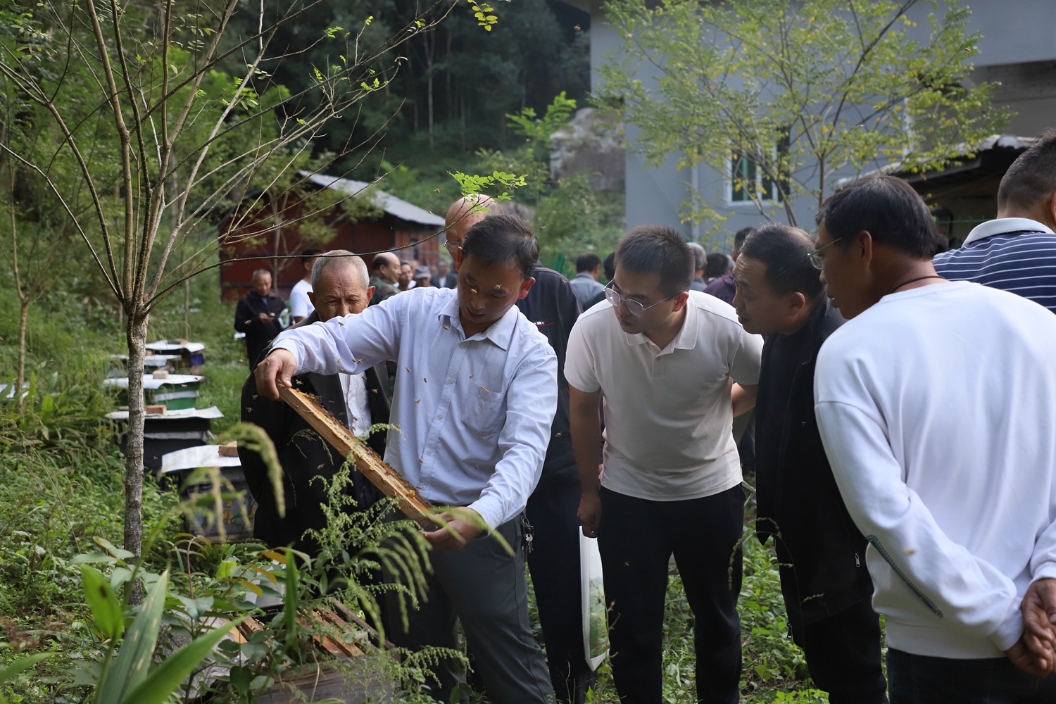
[[[254,13],[241,11],[238,0],[120,6],[42,0],[32,14],[7,18],[0,88],[20,104],[7,111],[5,132],[14,134],[15,122],[44,126],[48,139],[40,141],[53,148],[35,151],[36,141],[8,138],[0,140],[0,153],[13,165],[8,171],[39,179],[127,321],[124,545],[133,555],[143,538],[142,372],[151,310],[240,236],[227,229],[218,242],[213,225],[222,215],[239,222],[303,183],[298,171],[287,176],[310,154],[313,139],[383,89],[372,66],[446,14],[433,5],[429,17],[415,16],[373,42],[365,42],[369,18],[355,32],[316,27],[300,46],[334,42],[334,59],[312,65],[307,88],[290,93],[268,71],[298,50],[272,50],[271,42],[320,4],[294,0]],[[232,36],[231,19],[242,12],[251,14],[256,31]],[[233,56],[243,62],[241,75],[221,71]],[[306,209],[301,216],[313,214]],[[264,222],[251,235],[285,226],[284,216]]]

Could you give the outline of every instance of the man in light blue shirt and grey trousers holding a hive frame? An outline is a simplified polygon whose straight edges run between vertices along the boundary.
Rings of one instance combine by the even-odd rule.
[[[515,307],[534,283],[539,245],[509,215],[473,226],[458,256],[458,288],[414,288],[359,316],[290,330],[257,372],[257,387],[278,397],[295,373],[358,374],[397,360],[385,460],[434,505],[475,511],[514,548],[449,519],[426,535],[434,548],[429,600],[394,625],[400,646],[457,648],[461,621],[475,666],[494,704],[553,699],[532,638],[520,515],[543,468],[558,402],[557,358]],[[394,605],[395,606],[395,605]],[[395,611],[394,611],[395,612]],[[450,700],[465,674],[453,661],[436,668],[434,693]]]

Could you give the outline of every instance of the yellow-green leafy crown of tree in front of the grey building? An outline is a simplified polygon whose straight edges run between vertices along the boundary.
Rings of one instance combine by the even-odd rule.
[[[965,31],[968,9],[936,3],[944,12],[918,40],[905,15],[916,4],[609,0],[625,42],[602,68],[599,98],[640,129],[649,164],[676,153],[679,168],[725,173],[732,154],[747,157],[795,224],[792,204],[821,204],[836,170],[942,168],[1007,119],[992,84],[967,87],[979,40]],[[754,177],[734,180],[776,214]],[[686,207],[698,222],[721,220],[704,203]]]

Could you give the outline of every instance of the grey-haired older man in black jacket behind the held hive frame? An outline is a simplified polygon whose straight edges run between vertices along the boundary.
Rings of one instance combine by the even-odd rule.
[[[317,259],[312,271],[314,290],[308,296],[316,309],[297,327],[362,312],[374,293],[373,287],[367,286],[366,266],[361,259],[344,250],[326,253],[331,256]],[[389,380],[384,364],[357,376],[302,374],[294,377],[294,385],[322,399],[323,407],[357,435],[372,424],[389,422]],[[275,442],[286,493],[286,516],[280,518],[263,460],[254,452],[239,449],[242,470],[257,500],[253,537],[271,547],[293,544],[297,550],[317,554],[319,546],[305,538],[304,532],[325,527],[321,505],[327,498],[323,483],[312,479],[333,477],[343,463],[342,457],[317,433],[303,433],[309,425],[286,403],[258,395],[252,375],[242,387],[242,420],[263,427]],[[384,439],[384,433],[375,433],[366,444],[383,455]],[[380,492],[359,472],[353,471],[353,480],[357,508],[369,507],[380,498]]]

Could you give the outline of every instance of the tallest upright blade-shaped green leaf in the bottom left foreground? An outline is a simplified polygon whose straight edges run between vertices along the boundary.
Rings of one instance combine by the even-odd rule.
[[[157,631],[168,586],[169,571],[166,570],[151,587],[138,615],[129,627],[117,659],[102,676],[102,682],[96,689],[95,701],[98,704],[125,701],[126,692],[135,689],[147,678],[147,670],[154,657],[154,646],[157,645]]]

